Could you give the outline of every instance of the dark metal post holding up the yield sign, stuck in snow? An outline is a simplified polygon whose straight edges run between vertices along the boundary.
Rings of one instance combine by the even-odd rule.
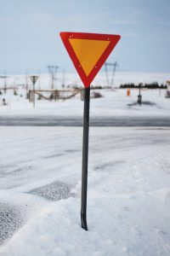
[[[87,189],[88,189],[88,131],[89,131],[89,104],[90,87],[84,89],[84,117],[83,117],[83,143],[82,143],[82,202],[81,221],[82,229],[88,230],[87,211]]]

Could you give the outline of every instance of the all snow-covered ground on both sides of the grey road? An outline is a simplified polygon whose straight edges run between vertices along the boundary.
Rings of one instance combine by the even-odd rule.
[[[168,73],[116,73],[113,89],[95,90],[92,117],[170,116],[166,90],[118,89],[120,84],[165,84]],[[54,83],[61,89],[63,74]],[[26,76],[0,80],[0,116],[81,117],[80,94],[48,102],[26,99]],[[42,74],[36,89],[50,89]],[[65,89],[82,83],[65,73]],[[106,85],[99,73],[93,85]],[[49,96],[46,95],[46,96]],[[94,90],[91,90],[94,96]],[[3,99],[6,104],[3,105]],[[169,256],[170,129],[90,127],[88,231],[80,223],[82,127],[0,126],[0,255]]]

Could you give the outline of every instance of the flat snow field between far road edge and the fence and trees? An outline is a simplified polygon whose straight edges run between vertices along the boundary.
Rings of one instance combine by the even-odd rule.
[[[166,90],[142,90],[144,104],[136,104],[139,95],[138,89],[131,90],[131,95],[127,96],[127,90],[95,90],[102,97],[92,98],[90,102],[91,116],[169,116],[170,99],[166,98]],[[161,93],[161,94],[160,94]],[[94,91],[91,91],[93,96]],[[22,96],[20,96],[22,95]],[[8,103],[3,106],[3,98]],[[48,102],[46,100],[36,100],[36,106],[26,99],[25,90],[19,90],[18,96],[13,95],[13,91],[8,91],[6,95],[0,96],[0,116],[82,116],[83,102],[78,94],[69,100],[59,100]]]

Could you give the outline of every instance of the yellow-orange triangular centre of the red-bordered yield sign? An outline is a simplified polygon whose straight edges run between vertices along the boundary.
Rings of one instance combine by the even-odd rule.
[[[72,48],[74,49],[77,59],[82,65],[84,73],[92,71],[100,56],[104,53],[111,41],[88,40],[69,38]]]

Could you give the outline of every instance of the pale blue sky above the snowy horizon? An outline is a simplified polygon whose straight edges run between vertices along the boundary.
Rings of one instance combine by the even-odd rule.
[[[119,70],[170,72],[170,0],[0,0],[0,73],[74,72],[62,31],[120,34]]]

